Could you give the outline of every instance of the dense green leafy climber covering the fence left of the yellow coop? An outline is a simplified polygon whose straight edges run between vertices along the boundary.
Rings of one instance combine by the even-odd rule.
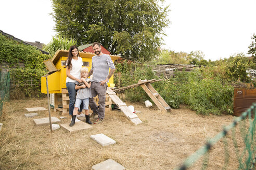
[[[0,34],[0,63],[8,63],[11,81],[18,81],[18,86],[10,89],[12,99],[43,95],[40,90],[41,76],[47,72],[43,61],[49,58],[49,55],[42,54],[33,46],[18,43]],[[11,68],[19,67],[19,63],[24,63],[24,68]],[[31,80],[34,85],[27,86],[26,80]]]

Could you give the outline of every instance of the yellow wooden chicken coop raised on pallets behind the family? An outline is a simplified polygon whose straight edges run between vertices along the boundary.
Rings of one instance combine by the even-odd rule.
[[[68,51],[67,50],[58,50],[52,59],[52,67],[57,71],[53,74],[47,76],[48,80],[48,91],[51,96],[50,103],[54,105],[54,110],[62,111],[63,114],[68,113],[69,108],[69,96],[68,90],[66,87],[66,68],[65,63],[68,59]],[[83,60],[83,67],[87,67],[88,70],[92,68],[92,57],[95,55],[93,53],[79,52],[80,57]],[[110,55],[112,61],[116,61],[120,56]],[[47,66],[48,67],[48,66]],[[93,75],[92,75],[93,76]],[[92,78],[92,77],[91,77]],[[113,76],[109,79],[108,86],[113,84]],[[47,94],[46,87],[46,77],[41,77],[41,92]],[[54,99],[53,99],[54,98]],[[95,98],[97,102],[97,97]],[[111,108],[111,99],[109,96],[106,96],[106,105],[109,105]]]

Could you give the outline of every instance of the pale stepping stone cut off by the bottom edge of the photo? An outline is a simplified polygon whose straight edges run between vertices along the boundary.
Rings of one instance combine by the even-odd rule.
[[[93,170],[124,170],[125,167],[112,159],[108,159],[92,166]]]

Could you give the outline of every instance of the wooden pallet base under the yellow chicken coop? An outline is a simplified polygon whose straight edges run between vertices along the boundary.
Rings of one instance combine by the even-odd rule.
[[[69,112],[69,93],[67,89],[61,89],[61,94],[54,95],[54,111],[58,110],[61,115],[68,114]],[[98,96],[94,97],[94,101],[98,105]],[[106,94],[106,106],[111,110],[112,101],[108,94]],[[62,105],[62,108],[59,107]]]

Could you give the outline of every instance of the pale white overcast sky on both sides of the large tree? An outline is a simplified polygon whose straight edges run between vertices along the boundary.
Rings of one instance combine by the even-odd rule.
[[[171,24],[162,48],[175,52],[200,50],[205,59],[246,55],[256,33],[256,0],[170,0]],[[50,0],[1,2],[0,30],[24,41],[47,44],[55,35]]]

